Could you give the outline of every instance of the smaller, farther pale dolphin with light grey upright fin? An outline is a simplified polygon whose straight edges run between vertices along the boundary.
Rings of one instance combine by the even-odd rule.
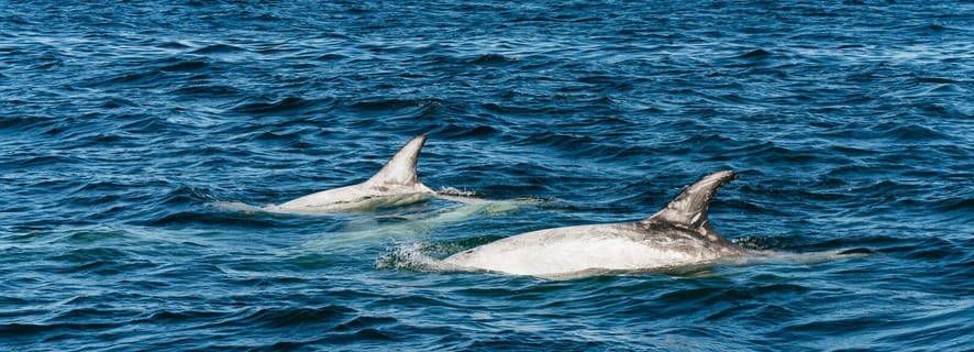
[[[436,193],[419,182],[416,164],[427,142],[420,134],[402,146],[383,168],[368,180],[322,190],[277,206],[264,207],[270,211],[347,212],[398,207],[419,202]]]

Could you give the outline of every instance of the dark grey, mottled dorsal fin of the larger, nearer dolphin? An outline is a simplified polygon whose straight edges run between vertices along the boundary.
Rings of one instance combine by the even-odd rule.
[[[710,201],[713,200],[713,195],[717,194],[717,189],[720,186],[735,178],[738,178],[738,174],[732,170],[704,176],[684,189],[665,208],[643,221],[671,222],[690,229],[706,230],[709,227],[707,223],[707,212],[710,209]]]

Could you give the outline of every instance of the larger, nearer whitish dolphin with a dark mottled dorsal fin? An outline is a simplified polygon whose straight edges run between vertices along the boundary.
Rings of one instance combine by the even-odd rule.
[[[710,263],[749,251],[728,241],[707,220],[731,170],[707,175],[665,208],[637,222],[588,224],[527,232],[443,260],[447,267],[538,277],[634,272]]]

